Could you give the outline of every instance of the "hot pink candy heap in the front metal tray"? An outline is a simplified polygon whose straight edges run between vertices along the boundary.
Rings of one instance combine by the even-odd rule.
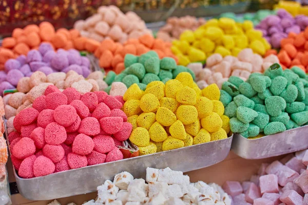
[[[122,101],[103,91],[81,95],[74,88],[47,87],[13,119],[16,131],[8,139],[18,175],[32,178],[123,159],[117,146],[132,126]]]

